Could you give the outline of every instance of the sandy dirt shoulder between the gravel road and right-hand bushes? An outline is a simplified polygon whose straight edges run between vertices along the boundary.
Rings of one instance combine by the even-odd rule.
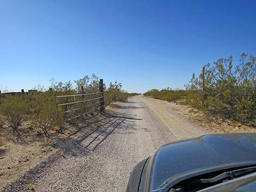
[[[239,132],[256,132],[256,128],[232,120],[223,120],[217,117],[206,115],[202,111],[181,104],[179,102],[167,102],[174,110],[183,114],[190,121],[197,123],[200,127],[205,127],[215,133],[239,133]]]

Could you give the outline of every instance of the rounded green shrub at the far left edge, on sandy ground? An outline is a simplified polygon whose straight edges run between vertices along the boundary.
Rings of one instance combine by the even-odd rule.
[[[27,104],[21,96],[8,96],[0,105],[0,113],[3,116],[3,124],[13,128],[21,125],[27,113]]]

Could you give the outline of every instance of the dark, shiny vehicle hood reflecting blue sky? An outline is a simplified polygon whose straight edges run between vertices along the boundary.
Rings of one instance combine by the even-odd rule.
[[[256,133],[204,135],[164,145],[149,159],[149,191],[208,172],[256,164]],[[158,190],[159,189],[159,190]]]

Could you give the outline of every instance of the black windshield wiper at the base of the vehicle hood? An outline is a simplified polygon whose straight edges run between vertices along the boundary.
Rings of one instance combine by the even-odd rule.
[[[243,169],[237,169],[237,170],[233,170],[233,171],[227,171],[227,172],[223,172],[220,175],[217,175],[215,177],[212,178],[202,178],[202,179],[198,179],[196,181],[196,183],[214,183],[217,181],[221,181],[225,178],[234,178],[234,177],[238,177],[241,175],[245,175],[245,174],[249,174],[251,172],[256,171],[256,166],[252,166],[249,168],[243,168]]]

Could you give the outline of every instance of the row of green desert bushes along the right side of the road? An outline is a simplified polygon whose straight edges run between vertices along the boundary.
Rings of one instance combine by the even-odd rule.
[[[256,57],[241,54],[207,64],[199,76],[193,74],[184,90],[152,89],[145,96],[166,101],[183,100],[193,107],[223,119],[256,125]]]

